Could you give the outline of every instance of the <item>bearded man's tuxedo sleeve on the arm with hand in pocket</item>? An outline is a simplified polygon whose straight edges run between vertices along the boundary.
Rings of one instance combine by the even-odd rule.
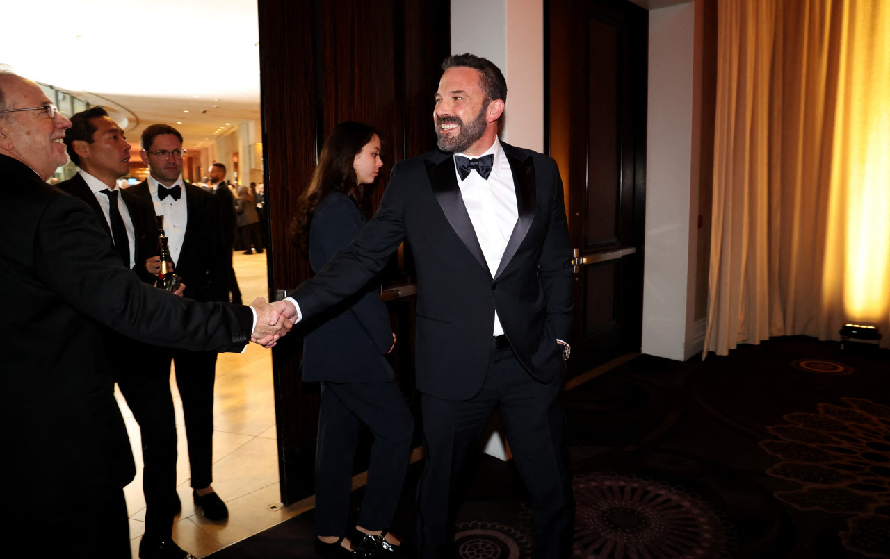
[[[552,160],[551,160],[552,161]],[[562,179],[555,164],[550,227],[538,259],[538,278],[546,298],[546,327],[555,339],[569,341],[571,330],[571,241],[562,199]]]

